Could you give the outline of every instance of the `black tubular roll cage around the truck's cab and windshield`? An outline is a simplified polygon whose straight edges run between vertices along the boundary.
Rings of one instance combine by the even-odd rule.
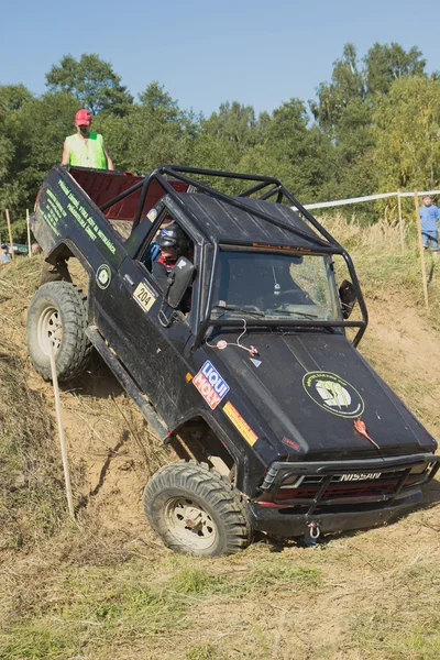
[[[217,190],[216,188],[212,188],[211,186],[208,186],[207,184],[205,184],[196,178],[193,178],[193,176],[188,176],[188,175],[230,178],[230,179],[237,179],[237,180],[242,180],[242,182],[256,182],[256,183],[254,183],[254,185],[252,185],[250,188],[246,188],[245,190],[239,193],[237,196],[231,196],[226,193],[221,193],[220,190]],[[359,342],[362,339],[362,336],[365,332],[365,329],[366,329],[366,326],[369,322],[369,315],[367,315],[365,301],[364,301],[364,298],[363,298],[363,295],[361,292],[361,287],[359,284],[359,279],[358,279],[351,256],[342,248],[342,245],[340,243],[338,243],[338,241],[336,241],[333,239],[333,237],[318,222],[318,220],[316,218],[314,218],[314,216],[296,199],[296,197],[294,197],[294,195],[289,190],[287,190],[287,188],[285,188],[285,186],[282,184],[282,182],[279,182],[275,177],[263,176],[263,175],[257,175],[257,174],[241,174],[241,173],[237,173],[237,172],[222,172],[222,170],[218,170],[218,169],[201,169],[198,167],[188,167],[186,165],[165,164],[165,165],[160,165],[148,176],[146,176],[142,182],[138,182],[136,184],[134,184],[134,186],[131,186],[131,188],[128,188],[120,195],[117,195],[116,197],[113,197],[112,199],[110,199],[109,201],[107,201],[99,208],[101,211],[106,211],[107,209],[112,207],[114,204],[121,201],[125,197],[129,197],[133,193],[141,189],[138,209],[136,209],[136,212],[135,212],[135,216],[133,219],[133,227],[132,227],[132,231],[133,231],[141,221],[141,216],[142,216],[142,211],[143,211],[143,208],[145,205],[145,199],[146,199],[146,196],[148,193],[148,187],[153,180],[156,180],[162,186],[162,188],[165,190],[165,193],[168,194],[169,197],[182,208],[184,213],[186,216],[188,216],[189,218],[191,218],[191,220],[194,221],[194,223],[196,224],[198,230],[201,232],[202,235],[205,235],[207,242],[211,243],[211,245],[213,246],[212,271],[211,271],[211,276],[210,276],[209,285],[208,285],[208,297],[207,297],[205,316],[201,319],[199,329],[197,331],[197,336],[196,336],[196,340],[195,340],[195,344],[194,344],[195,349],[201,344],[201,342],[204,341],[204,338],[206,336],[206,332],[210,326],[237,326],[237,323],[240,322],[240,319],[237,319],[237,320],[222,319],[220,321],[220,320],[210,318],[211,308],[212,308],[213,285],[216,282],[216,273],[217,273],[217,268],[218,268],[220,248],[221,246],[227,248],[228,244],[230,244],[230,245],[241,244],[243,248],[258,250],[258,245],[255,243],[252,243],[252,242],[239,243],[237,241],[233,241],[233,242],[229,243],[228,240],[223,240],[223,239],[221,240],[221,242],[219,242],[217,240],[217,238],[215,238],[212,235],[208,235],[207,232],[204,231],[204,228],[200,227],[200,222],[194,216],[193,211],[187,207],[187,205],[185,205],[185,201],[183,200],[183,198],[179,196],[179,194],[176,193],[176,190],[170,185],[170,183],[165,178],[165,176],[168,176],[168,177],[173,178],[174,180],[186,183],[186,184],[188,184],[188,187],[193,186],[197,190],[199,190],[201,193],[206,193],[210,197],[213,197],[220,201],[224,201],[228,205],[233,206],[238,209],[241,209],[246,212],[251,211],[252,215],[257,216],[258,218],[265,220],[266,222],[270,222],[272,224],[275,224],[276,227],[283,228],[297,237],[306,239],[307,241],[314,243],[312,250],[307,250],[307,253],[340,254],[344,258],[346,267],[350,273],[350,276],[352,278],[354,292],[356,294],[358,302],[359,302],[361,314],[362,314],[362,320],[360,320],[360,321],[319,321],[319,322],[314,322],[311,319],[295,319],[295,320],[284,319],[280,322],[279,320],[270,320],[270,319],[264,320],[264,319],[250,318],[249,320],[246,320],[248,326],[260,326],[260,327],[261,326],[283,326],[283,327],[295,326],[295,327],[308,327],[308,328],[310,328],[310,327],[315,327],[315,328],[317,328],[317,327],[320,327],[320,328],[323,328],[323,327],[359,328],[359,331],[356,332],[356,334],[353,339],[353,345],[356,346],[359,344]],[[268,189],[264,190],[265,188],[268,188]],[[271,197],[274,197],[276,195],[275,204],[283,204],[284,198],[286,198],[288,201],[292,202],[292,205],[296,208],[296,210],[299,211],[306,218],[306,220],[308,220],[308,222],[315,228],[315,230],[322,238],[309,235],[308,233],[301,231],[300,229],[298,229],[296,227],[292,227],[292,224],[289,224],[288,222],[284,222],[283,220],[279,220],[279,218],[276,218],[268,212],[262,211],[261,209],[252,209],[251,210],[249,208],[249,206],[246,206],[245,204],[243,204],[241,201],[241,198],[251,197],[251,195],[254,195],[256,193],[261,193],[261,195],[256,198],[260,200],[267,200]],[[145,237],[146,241],[148,241],[154,235],[154,233],[156,231],[156,224],[157,224],[157,222],[155,222],[155,221],[152,222],[152,226]],[[302,252],[302,253],[306,252],[306,251],[301,250],[300,248],[297,248],[297,249],[295,246],[286,248],[285,245],[279,246],[278,250],[275,245],[270,246],[270,245],[262,244],[261,248],[264,249],[264,251],[272,251],[272,252],[279,252],[279,250],[284,250],[286,252],[287,251]]]

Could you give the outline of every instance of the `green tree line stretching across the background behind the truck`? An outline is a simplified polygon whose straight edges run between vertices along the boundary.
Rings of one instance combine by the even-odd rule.
[[[65,55],[46,87],[36,96],[23,85],[0,86],[0,209],[12,211],[19,231],[81,107],[127,172],[176,163],[266,174],[304,204],[440,185],[440,74],[427,74],[416,46],[375,43],[360,59],[345,44],[314,100],[292,97],[260,114],[227,101],[205,117],[180,108],[158,81],[134,100],[96,54]],[[369,208],[369,220],[383,211]]]

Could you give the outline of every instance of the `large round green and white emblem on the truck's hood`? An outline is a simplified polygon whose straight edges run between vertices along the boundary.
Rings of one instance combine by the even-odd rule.
[[[308,372],[302,387],[318,406],[338,417],[359,417],[365,408],[358,389],[330,372]]]

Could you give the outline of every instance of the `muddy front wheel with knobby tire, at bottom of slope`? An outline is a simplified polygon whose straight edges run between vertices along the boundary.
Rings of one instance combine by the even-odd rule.
[[[205,463],[182,461],[161,468],[145,486],[143,505],[150,525],[175,552],[201,557],[233,554],[252,540],[248,506],[241,493]],[[199,510],[204,525],[200,522],[198,530],[185,525],[188,510],[193,516]]]

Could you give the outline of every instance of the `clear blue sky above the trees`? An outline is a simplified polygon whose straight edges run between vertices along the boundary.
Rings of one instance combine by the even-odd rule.
[[[374,42],[417,45],[440,69],[439,32],[431,0],[16,0],[2,3],[0,84],[42,94],[63,55],[98,53],[134,96],[158,80],[196,112],[228,100],[272,111],[314,98],[349,41],[360,57]]]

